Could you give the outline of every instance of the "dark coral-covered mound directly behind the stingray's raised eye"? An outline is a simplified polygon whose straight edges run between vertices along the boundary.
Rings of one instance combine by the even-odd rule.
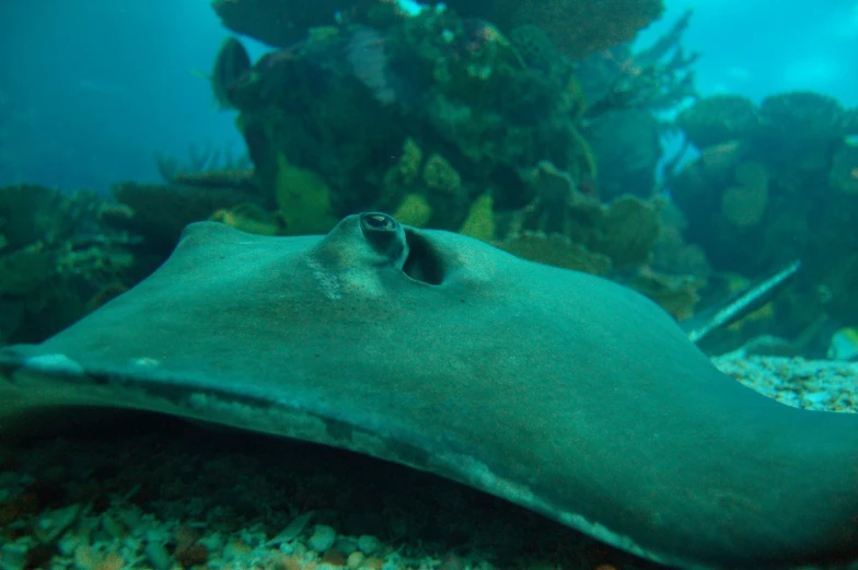
[[[399,211],[407,198],[420,224],[455,230],[487,189],[497,208],[526,203],[514,173],[540,159],[595,175],[568,63],[529,68],[484,22],[426,11],[384,31],[316,28],[278,54],[236,86],[239,125],[263,194],[281,193],[287,163],[324,181],[328,199],[302,216]]]

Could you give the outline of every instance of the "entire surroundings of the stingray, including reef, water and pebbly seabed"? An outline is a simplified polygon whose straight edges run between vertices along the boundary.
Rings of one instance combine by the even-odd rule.
[[[616,281],[735,380],[858,409],[858,2],[5,0],[0,32],[0,346],[192,222],[383,211]],[[126,430],[0,433],[0,570],[661,568],[407,469],[357,481],[366,457]]]

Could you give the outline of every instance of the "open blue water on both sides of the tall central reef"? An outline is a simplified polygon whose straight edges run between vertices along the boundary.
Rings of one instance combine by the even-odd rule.
[[[809,89],[858,104],[858,2],[669,0],[641,43],[687,8],[702,93]],[[4,0],[0,31],[0,185],[104,190],[159,181],[154,153],[241,149],[195,73],[227,35],[207,0]]]

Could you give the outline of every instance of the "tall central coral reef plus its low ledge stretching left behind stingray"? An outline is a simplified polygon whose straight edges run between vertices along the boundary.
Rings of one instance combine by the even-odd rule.
[[[109,246],[91,253],[127,248],[131,259],[113,278],[93,280],[102,292],[86,293],[92,299],[108,299],[147,275],[194,221],[269,235],[323,233],[344,216],[373,209],[640,283],[685,314],[652,286],[687,289],[671,266],[682,255],[652,264],[663,225],[652,188],[662,128],[653,110],[691,92],[693,58],[680,47],[687,18],[633,53],[617,44],[660,13],[659,1],[455,1],[417,15],[387,0],[345,9],[327,0],[212,7],[235,32],[277,46],[248,69],[244,47],[231,38],[242,65],[224,69],[216,85],[237,110],[247,153],[208,143],[184,159],[156,156],[166,184],[117,184],[109,199],[93,202],[98,213],[80,228],[108,236]],[[561,19],[554,18],[558,7]],[[592,50],[591,58],[570,59]],[[50,199],[62,212],[71,198]],[[31,207],[15,205],[19,212]],[[38,289],[26,279],[90,263],[57,257],[60,237],[50,245],[14,241],[13,225],[0,229],[9,268],[0,289],[9,295]],[[687,248],[681,239],[671,244],[674,253]],[[633,279],[645,268],[656,276],[650,282]],[[5,338],[35,338],[14,333],[30,310],[18,300],[2,303],[3,318],[15,323],[2,327],[13,331]]]

